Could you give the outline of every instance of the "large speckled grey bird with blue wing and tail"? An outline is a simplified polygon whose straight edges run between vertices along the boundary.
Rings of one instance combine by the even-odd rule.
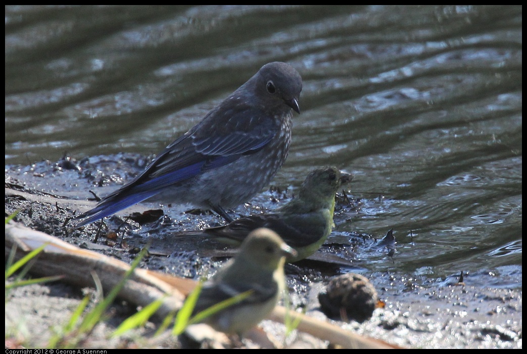
[[[302,79],[291,65],[262,66],[140,175],[79,215],[87,219],[75,228],[147,199],[192,204],[232,221],[225,209],[258,193],[286,160],[301,90]]]

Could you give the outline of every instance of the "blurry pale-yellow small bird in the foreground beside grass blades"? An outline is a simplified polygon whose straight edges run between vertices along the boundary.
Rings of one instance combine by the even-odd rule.
[[[269,229],[247,235],[235,258],[203,284],[193,313],[251,290],[249,296],[203,320],[216,330],[243,333],[276,306],[285,289],[284,263],[296,252]]]

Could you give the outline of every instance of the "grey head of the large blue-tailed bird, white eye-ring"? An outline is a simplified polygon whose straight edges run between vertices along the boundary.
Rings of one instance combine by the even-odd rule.
[[[294,67],[282,62],[268,63],[249,82],[253,80],[256,96],[268,109],[285,110],[289,106],[300,113],[298,100],[302,91],[302,78]]]

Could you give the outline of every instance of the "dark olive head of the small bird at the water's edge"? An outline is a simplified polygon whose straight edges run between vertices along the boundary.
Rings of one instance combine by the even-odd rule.
[[[300,196],[334,196],[341,185],[350,182],[353,175],[335,167],[324,167],[310,172],[300,188]]]

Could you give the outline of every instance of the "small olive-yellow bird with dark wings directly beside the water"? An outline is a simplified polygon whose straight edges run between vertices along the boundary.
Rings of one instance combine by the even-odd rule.
[[[315,253],[333,228],[335,194],[352,175],[334,167],[310,172],[294,199],[267,214],[251,215],[215,228],[183,231],[175,236],[202,236],[239,245],[247,234],[257,228],[268,228],[280,235],[297,252],[288,259],[296,262]]]

